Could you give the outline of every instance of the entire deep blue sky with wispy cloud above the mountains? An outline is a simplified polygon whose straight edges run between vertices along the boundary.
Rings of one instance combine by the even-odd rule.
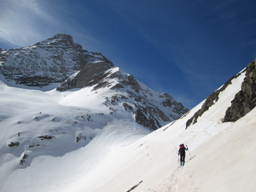
[[[67,33],[192,109],[253,61],[255,0],[0,0],[0,48]]]

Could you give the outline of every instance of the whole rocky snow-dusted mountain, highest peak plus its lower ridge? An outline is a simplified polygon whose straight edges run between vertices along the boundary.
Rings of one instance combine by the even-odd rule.
[[[2,52],[0,73],[4,78],[0,80],[9,86],[13,86],[10,82],[15,81],[15,87],[26,89],[33,86],[33,89],[43,87],[47,90],[57,85],[58,91],[87,89],[94,97],[100,98],[97,100],[99,105],[108,107],[108,112],[101,113],[113,114],[125,110],[128,116],[134,116],[138,124],[151,130],[188,112],[170,95],[148,88],[115,67],[101,53],[83,50],[67,34],[55,35],[31,47]],[[106,90],[109,90],[108,96],[105,95]]]

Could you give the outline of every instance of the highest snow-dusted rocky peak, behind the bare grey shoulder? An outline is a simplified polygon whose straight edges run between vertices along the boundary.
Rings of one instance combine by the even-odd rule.
[[[61,33],[30,47],[1,50],[0,73],[17,84],[43,87],[63,82],[94,61],[113,65],[101,53],[83,50],[70,35]]]

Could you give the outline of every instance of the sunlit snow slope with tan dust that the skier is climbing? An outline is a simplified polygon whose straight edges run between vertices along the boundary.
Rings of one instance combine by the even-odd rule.
[[[244,78],[245,71],[232,79],[197,123],[186,129],[206,100],[175,122],[112,150],[93,174],[60,191],[254,191],[256,109],[235,123],[222,123]],[[181,143],[188,145],[189,153],[185,166],[179,168]]]

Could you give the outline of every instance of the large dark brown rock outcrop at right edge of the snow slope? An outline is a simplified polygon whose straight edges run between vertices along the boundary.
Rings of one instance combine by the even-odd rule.
[[[235,122],[241,117],[244,117],[256,106],[256,63],[250,62],[246,67],[244,82],[231,106],[226,110],[226,115],[223,122]]]

